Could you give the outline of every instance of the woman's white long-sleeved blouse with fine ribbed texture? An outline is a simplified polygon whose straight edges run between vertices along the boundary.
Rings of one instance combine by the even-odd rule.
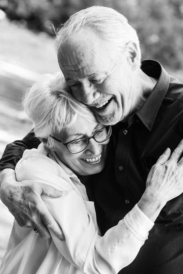
[[[118,273],[134,260],[154,223],[136,205],[101,237],[85,186],[56,154],[52,159],[46,155],[43,144],[25,150],[15,172],[18,181],[41,182],[63,191],[59,198],[42,199],[66,240],[61,241],[51,230],[51,239],[43,240],[15,220],[0,273]]]

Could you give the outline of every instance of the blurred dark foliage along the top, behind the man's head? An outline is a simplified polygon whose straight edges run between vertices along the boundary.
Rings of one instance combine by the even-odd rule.
[[[93,5],[111,7],[127,17],[138,33],[142,59],[156,59],[165,67],[183,68],[182,0],[0,0],[11,21],[50,35],[70,15]]]

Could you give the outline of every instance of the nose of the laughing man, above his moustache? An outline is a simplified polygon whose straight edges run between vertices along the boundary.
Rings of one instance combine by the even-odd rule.
[[[94,84],[90,82],[82,83],[82,102],[84,104],[92,104],[99,96],[100,92],[96,89]]]

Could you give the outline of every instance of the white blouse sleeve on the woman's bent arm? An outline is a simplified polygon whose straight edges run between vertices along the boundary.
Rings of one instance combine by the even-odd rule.
[[[61,241],[50,230],[51,237],[59,252],[84,273],[118,273],[134,260],[154,225],[136,205],[101,237],[86,207],[86,203],[94,206],[93,202],[84,201],[73,190],[58,164],[47,157],[31,157],[21,160],[15,172],[19,181],[50,184],[63,191],[59,198],[42,196],[66,240]]]

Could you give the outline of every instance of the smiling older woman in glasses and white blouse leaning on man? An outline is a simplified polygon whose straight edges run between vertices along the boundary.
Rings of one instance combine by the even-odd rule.
[[[103,169],[111,127],[99,124],[91,110],[69,94],[60,72],[44,75],[33,85],[24,106],[42,143],[25,150],[15,169],[17,180],[44,182],[63,191],[60,198],[42,199],[65,241],[51,230],[51,239],[43,240],[36,227],[22,228],[15,220],[0,273],[118,273],[136,257],[153,222],[136,205],[100,235],[94,203],[77,175]]]

